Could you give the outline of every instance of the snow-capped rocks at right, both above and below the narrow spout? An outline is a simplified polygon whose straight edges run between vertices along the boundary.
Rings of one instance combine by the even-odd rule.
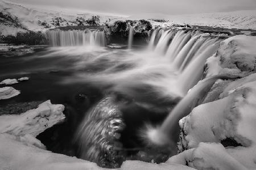
[[[178,155],[167,163],[196,169],[255,169],[256,37],[233,36],[207,60],[207,76],[240,73],[218,80],[203,103],[179,121]]]

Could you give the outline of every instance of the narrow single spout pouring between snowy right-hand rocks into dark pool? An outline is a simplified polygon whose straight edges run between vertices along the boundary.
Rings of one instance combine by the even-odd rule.
[[[238,77],[240,75],[220,74],[201,80],[168,114],[166,120],[164,120],[159,128],[154,129],[148,126],[150,128],[146,131],[147,139],[154,145],[170,145],[173,142],[171,137],[179,126],[179,120],[191,112],[197,101],[207,94],[213,83],[217,79],[236,79]]]

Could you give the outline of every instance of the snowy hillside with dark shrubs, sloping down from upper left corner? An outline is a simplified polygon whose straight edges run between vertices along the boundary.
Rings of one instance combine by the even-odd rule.
[[[47,9],[45,9],[47,8]],[[118,16],[98,15],[86,11],[53,9],[20,5],[0,0],[0,35],[16,35],[17,32],[46,31],[66,25],[104,25],[106,20]]]

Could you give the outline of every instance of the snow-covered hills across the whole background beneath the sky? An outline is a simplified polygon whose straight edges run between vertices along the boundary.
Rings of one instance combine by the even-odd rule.
[[[191,15],[137,14],[132,16],[95,14],[77,9],[32,6],[0,0],[0,35],[16,35],[17,32],[46,31],[49,28],[84,23],[86,19],[99,15],[100,25],[110,19],[164,19],[166,22],[154,22],[152,25],[164,27],[173,24],[207,25],[210,27],[256,29],[256,11],[216,12]],[[77,18],[79,18],[77,20]]]

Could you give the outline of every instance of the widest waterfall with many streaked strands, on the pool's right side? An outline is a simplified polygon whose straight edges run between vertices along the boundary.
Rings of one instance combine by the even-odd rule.
[[[177,70],[176,86],[184,96],[201,79],[204,63],[217,51],[218,44],[219,40],[209,33],[155,29],[148,49],[167,58]]]

